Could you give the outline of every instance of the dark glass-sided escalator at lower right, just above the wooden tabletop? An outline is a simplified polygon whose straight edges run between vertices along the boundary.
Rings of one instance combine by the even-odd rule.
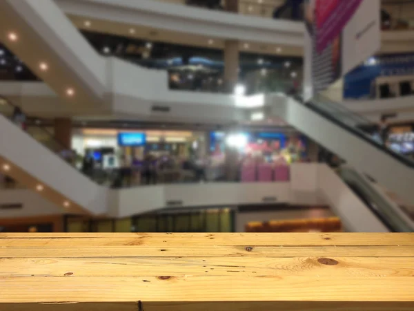
[[[414,232],[412,216],[390,200],[373,180],[347,166],[341,167],[338,174],[389,232]]]

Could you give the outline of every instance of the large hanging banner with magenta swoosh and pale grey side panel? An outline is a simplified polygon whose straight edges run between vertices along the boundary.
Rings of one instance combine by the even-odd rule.
[[[304,8],[309,100],[380,49],[380,0],[305,0]]]

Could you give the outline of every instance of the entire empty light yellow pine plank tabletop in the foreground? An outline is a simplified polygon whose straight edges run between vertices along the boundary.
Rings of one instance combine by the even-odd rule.
[[[414,310],[414,235],[0,234],[0,310]]]

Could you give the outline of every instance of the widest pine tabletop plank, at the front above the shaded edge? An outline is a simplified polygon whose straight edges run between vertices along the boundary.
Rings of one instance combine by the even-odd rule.
[[[174,301],[413,301],[413,277],[3,277],[1,303]]]

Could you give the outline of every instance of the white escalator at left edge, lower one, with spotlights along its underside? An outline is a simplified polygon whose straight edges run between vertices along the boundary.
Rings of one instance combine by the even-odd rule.
[[[10,120],[16,113],[16,106],[1,98],[0,173],[39,191],[68,213],[106,213],[108,188],[65,160],[65,148],[41,126],[22,131]]]

